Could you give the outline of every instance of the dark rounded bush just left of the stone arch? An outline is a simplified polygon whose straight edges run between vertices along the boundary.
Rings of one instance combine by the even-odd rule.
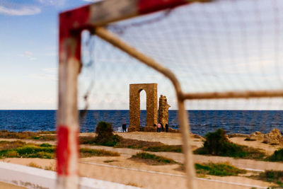
[[[120,141],[117,134],[113,134],[112,125],[109,122],[98,122],[96,126],[94,142],[103,146],[114,147]]]

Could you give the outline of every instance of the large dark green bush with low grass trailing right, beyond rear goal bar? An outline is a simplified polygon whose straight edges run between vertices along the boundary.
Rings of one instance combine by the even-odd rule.
[[[204,146],[196,149],[194,154],[209,154],[213,156],[230,156],[246,159],[263,159],[265,153],[260,149],[246,147],[229,142],[226,132],[222,129],[208,132],[205,135]]]

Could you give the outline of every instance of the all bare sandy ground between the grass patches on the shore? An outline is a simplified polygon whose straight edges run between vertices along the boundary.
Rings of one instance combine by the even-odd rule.
[[[132,132],[132,133],[117,133],[122,137],[129,139],[139,139],[152,142],[163,142],[164,144],[181,144],[181,137],[179,133],[147,133],[147,132]],[[94,136],[93,133],[83,133],[83,136]],[[241,142],[241,144],[255,146],[252,142],[246,142],[244,138],[231,138],[233,142]],[[0,140],[17,140],[17,139],[0,139]],[[54,141],[35,141],[23,140],[36,144],[50,143],[56,144]],[[193,146],[201,147],[202,139],[192,138]],[[260,142],[258,142],[260,143]],[[256,143],[256,144],[258,144]],[[258,144],[262,149],[267,149],[267,144]],[[266,146],[265,146],[266,145]],[[184,173],[176,171],[178,164],[169,166],[149,166],[142,162],[132,161],[129,159],[133,154],[140,152],[139,149],[120,149],[113,147],[80,145],[81,147],[88,147],[91,149],[105,149],[110,151],[117,151],[121,154],[119,157],[91,157],[80,159],[80,174],[81,176],[98,178],[104,181],[113,181],[116,183],[124,183],[127,185],[137,185],[144,188],[185,188]],[[275,151],[274,148],[270,151]],[[152,154],[166,156],[183,163],[183,154],[173,152],[149,152]],[[255,161],[250,159],[233,159],[230,157],[221,156],[202,156],[194,155],[195,162],[207,163],[213,162],[229,162],[233,166],[239,168],[251,168],[258,170],[283,170],[283,164],[267,161]],[[40,165],[42,168],[55,169],[56,162],[54,159],[4,159],[6,162],[13,164],[28,165],[33,162]],[[221,183],[224,182],[224,183]],[[199,188],[252,188],[255,185],[267,188],[270,183],[262,181],[255,181],[250,178],[243,178],[240,176],[218,177],[207,176],[206,178],[197,178]]]

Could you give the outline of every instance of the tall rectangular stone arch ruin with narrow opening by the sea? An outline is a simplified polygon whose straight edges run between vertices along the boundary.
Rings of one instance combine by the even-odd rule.
[[[157,84],[129,84],[128,131],[140,130],[140,92],[146,92],[146,127],[157,124]]]

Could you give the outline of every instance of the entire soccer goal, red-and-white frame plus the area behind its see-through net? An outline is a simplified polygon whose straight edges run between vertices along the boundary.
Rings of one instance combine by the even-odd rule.
[[[125,188],[282,187],[282,6],[105,0],[61,13],[58,185],[76,187],[79,170]],[[115,144],[87,141],[101,121]],[[120,156],[79,159],[79,147]]]

